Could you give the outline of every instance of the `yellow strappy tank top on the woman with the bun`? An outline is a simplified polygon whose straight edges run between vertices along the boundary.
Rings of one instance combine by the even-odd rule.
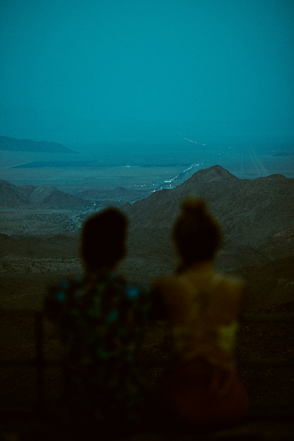
[[[185,285],[190,305],[182,323],[173,327],[177,355],[182,361],[201,358],[223,369],[233,368],[238,324],[236,320],[229,323],[223,320],[222,308],[225,313],[227,302],[226,278],[218,276],[211,279],[201,292],[190,280],[185,280]]]

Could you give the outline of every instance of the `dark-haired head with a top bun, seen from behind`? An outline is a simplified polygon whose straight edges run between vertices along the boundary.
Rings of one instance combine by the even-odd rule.
[[[183,265],[192,265],[213,258],[220,247],[220,225],[208,213],[205,201],[188,198],[175,221],[173,239]]]

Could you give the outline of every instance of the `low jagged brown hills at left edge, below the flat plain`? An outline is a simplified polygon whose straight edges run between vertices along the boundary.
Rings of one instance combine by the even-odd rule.
[[[89,201],[57,190],[52,185],[22,185],[17,187],[0,179],[1,208],[76,209],[86,207]]]

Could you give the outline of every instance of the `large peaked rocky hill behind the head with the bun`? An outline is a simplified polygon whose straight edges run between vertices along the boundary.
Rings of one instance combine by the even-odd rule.
[[[124,206],[130,218],[130,256],[157,260],[157,266],[159,261],[176,262],[171,228],[182,200],[189,195],[204,198],[222,225],[220,269],[294,255],[294,179],[282,175],[238,179],[214,165],[194,173],[173,190],[156,191]]]

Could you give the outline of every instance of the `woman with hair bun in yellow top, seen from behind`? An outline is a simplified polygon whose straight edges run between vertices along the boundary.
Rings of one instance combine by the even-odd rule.
[[[179,267],[174,276],[156,284],[167,308],[177,360],[164,387],[165,403],[182,422],[236,422],[248,409],[233,356],[244,285],[214,269],[222,232],[203,200],[182,203],[173,239]]]

